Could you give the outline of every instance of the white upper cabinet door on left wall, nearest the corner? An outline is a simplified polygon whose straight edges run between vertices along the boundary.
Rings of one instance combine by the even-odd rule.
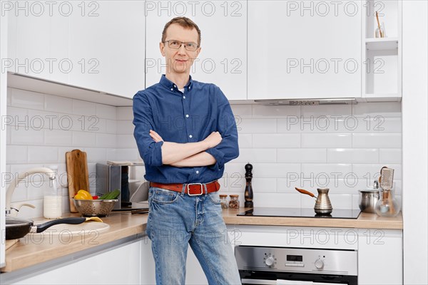
[[[144,89],[144,1],[76,1],[73,9],[69,83],[128,98]]]

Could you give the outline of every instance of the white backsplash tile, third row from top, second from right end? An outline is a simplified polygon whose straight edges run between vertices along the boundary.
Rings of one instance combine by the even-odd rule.
[[[302,147],[352,147],[352,135],[347,133],[302,133]]]

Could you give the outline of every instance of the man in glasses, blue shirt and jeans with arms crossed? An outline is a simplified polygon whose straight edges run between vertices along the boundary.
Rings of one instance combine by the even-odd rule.
[[[240,284],[217,182],[239,153],[232,110],[220,88],[190,76],[200,53],[193,21],[169,21],[160,49],[166,74],[133,98],[134,137],[151,182],[147,234],[156,283],[184,284],[190,244],[209,284]]]

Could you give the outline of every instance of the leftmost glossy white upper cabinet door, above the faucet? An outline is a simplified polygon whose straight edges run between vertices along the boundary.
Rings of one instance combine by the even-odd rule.
[[[66,83],[66,9],[62,10],[57,2],[16,1],[5,5],[4,12],[9,16],[8,71]]]

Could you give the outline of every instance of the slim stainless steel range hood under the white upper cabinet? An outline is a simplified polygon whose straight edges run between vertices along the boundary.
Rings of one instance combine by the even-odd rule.
[[[330,98],[330,99],[273,99],[273,100],[254,100],[255,103],[262,105],[346,105],[356,104],[355,98]]]

